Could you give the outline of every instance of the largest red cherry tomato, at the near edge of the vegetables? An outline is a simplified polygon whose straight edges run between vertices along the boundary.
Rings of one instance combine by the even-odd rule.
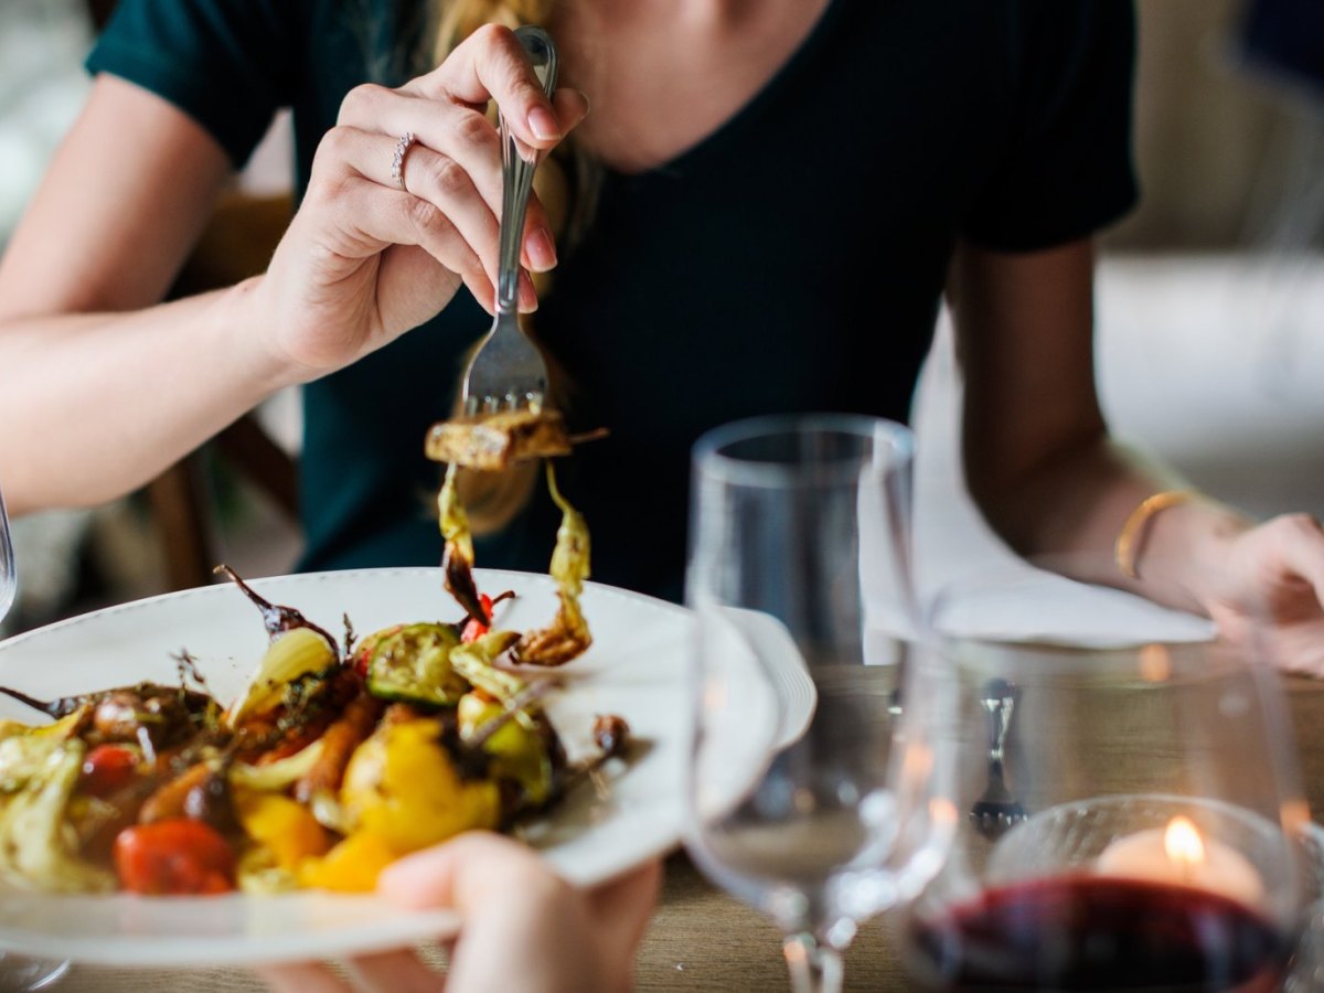
[[[214,828],[187,817],[126,828],[115,835],[114,859],[130,892],[181,896],[234,888],[234,849]]]

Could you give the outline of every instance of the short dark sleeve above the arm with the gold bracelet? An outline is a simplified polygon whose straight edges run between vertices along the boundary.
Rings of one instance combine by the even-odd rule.
[[[967,237],[1031,252],[1087,237],[1135,205],[1135,30],[1129,0],[1018,5],[1009,128]]]

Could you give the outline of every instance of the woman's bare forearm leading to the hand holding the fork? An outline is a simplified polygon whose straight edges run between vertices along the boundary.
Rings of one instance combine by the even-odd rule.
[[[257,323],[261,279],[138,311],[0,324],[11,511],[128,493],[295,381]]]

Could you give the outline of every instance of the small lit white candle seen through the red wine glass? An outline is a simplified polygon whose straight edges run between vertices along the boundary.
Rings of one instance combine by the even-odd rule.
[[[1166,828],[1117,838],[1099,855],[1095,871],[1190,886],[1253,907],[1264,900],[1264,880],[1250,861],[1226,845],[1201,838],[1186,817],[1172,818]]]

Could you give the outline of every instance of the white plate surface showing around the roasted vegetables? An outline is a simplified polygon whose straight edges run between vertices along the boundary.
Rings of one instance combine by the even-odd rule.
[[[498,622],[545,625],[556,610],[545,576],[478,571],[481,589],[514,589]],[[342,617],[368,634],[392,624],[455,620],[438,569],[361,569],[257,580],[273,602],[294,606],[339,637]],[[641,743],[606,769],[609,792],[571,793],[527,841],[576,883],[609,879],[671,849],[681,837],[688,727],[691,614],[683,608],[588,584],[592,649],[560,670],[568,687],[548,702],[567,748],[585,747],[596,714],[618,714]],[[0,685],[37,698],[83,694],[144,679],[177,681],[175,655],[197,659],[213,694],[229,700],[266,647],[257,609],[225,584],[142,600],[29,632],[0,643]],[[34,722],[21,704],[0,716]],[[36,723],[36,722],[34,722]],[[453,932],[449,912],[404,912],[372,896],[298,892],[212,898],[57,896],[0,883],[0,949],[29,956],[163,967],[340,957]]]

